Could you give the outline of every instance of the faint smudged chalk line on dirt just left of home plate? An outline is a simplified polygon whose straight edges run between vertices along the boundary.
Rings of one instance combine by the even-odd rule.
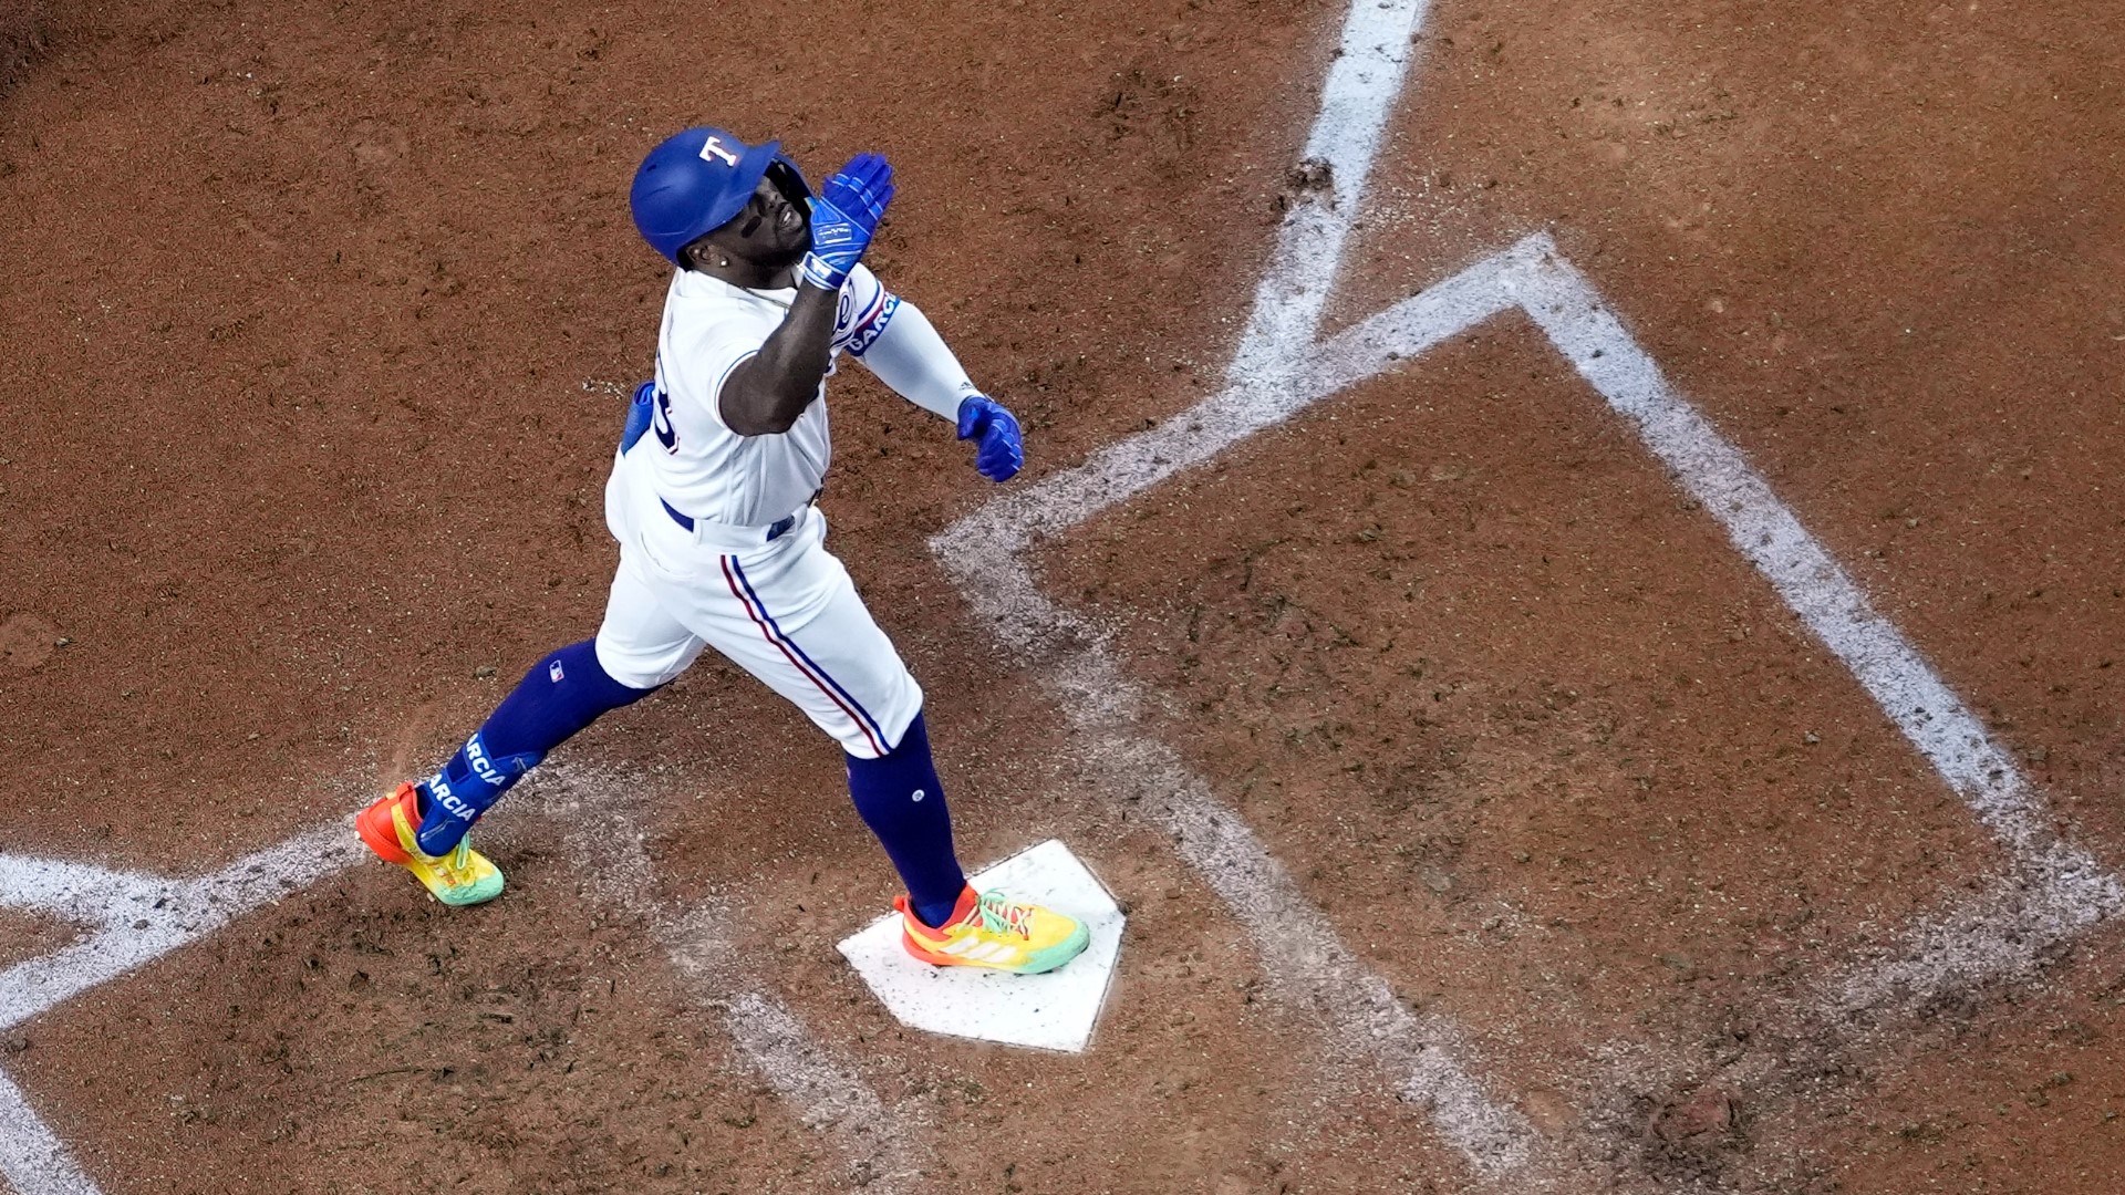
[[[657,870],[642,844],[642,782],[582,763],[546,763],[518,789],[565,827],[570,853],[599,899],[657,936],[691,995],[720,1012],[737,1055],[812,1131],[848,1159],[865,1191],[897,1195],[922,1178],[916,1116],[886,1106],[854,1063],[803,1027],[763,991],[731,950],[729,910],[714,899],[674,908],[657,895]]]

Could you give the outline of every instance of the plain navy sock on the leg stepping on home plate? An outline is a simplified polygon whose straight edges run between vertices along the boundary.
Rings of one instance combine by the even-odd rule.
[[[871,827],[924,925],[944,925],[967,887],[952,853],[952,814],[944,806],[944,785],[929,753],[922,714],[882,759],[848,757],[848,795]]]

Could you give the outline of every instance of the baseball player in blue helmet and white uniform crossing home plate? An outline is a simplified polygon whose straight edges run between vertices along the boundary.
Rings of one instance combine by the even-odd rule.
[[[531,666],[434,776],[355,819],[436,899],[502,895],[502,872],[468,834],[480,814],[572,734],[714,646],[842,744],[856,810],[907,887],[895,908],[914,957],[1031,974],[1084,950],[1075,919],[967,885],[922,689],[824,549],[824,383],[844,353],[952,419],[982,476],[1001,483],[1024,464],[1012,413],[861,264],[890,202],[892,168],[878,155],[854,157],[818,196],[780,142],[722,130],[686,130],[642,159],[635,228],[678,270],[657,376],[635,391],[606,483],[620,542],[606,619]]]

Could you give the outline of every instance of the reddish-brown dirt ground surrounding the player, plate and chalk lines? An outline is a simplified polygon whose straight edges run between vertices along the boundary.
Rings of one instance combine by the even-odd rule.
[[[223,868],[595,627],[665,132],[895,159],[876,264],[1022,415],[1018,489],[1216,393],[1337,185],[1294,168],[1324,0],[57,6],[8,89],[15,11],[0,855]],[[1415,11],[1322,332],[1547,230],[2114,872],[2125,17]],[[1101,780],[1056,657],[954,593],[929,540],[1018,489],[848,370],[835,421],[833,542],[931,693],[963,855],[1060,836],[1130,912],[1088,1053],[884,1014],[833,950],[892,891],[839,759],[703,659],[497,812],[504,902],[319,863],[0,1029],[0,1104],[113,1195],[2116,1189],[2116,923],[1840,995],[2014,857],[1528,315],[1026,557],[1381,1036],[1526,1125],[1509,1165],[1324,1031],[1339,955],[1262,957]],[[0,910],[0,974],[66,940]]]

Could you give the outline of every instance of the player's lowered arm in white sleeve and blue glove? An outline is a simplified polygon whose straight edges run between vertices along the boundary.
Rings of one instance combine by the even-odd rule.
[[[1018,417],[973,385],[922,308],[884,287],[854,298],[848,351],[907,402],[954,421],[960,440],[975,440],[973,468],[988,481],[1009,481],[1024,468]]]

